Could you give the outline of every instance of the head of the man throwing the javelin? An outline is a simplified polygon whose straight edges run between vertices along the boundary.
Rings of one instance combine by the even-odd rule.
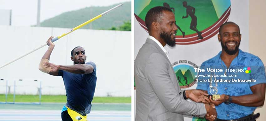
[[[73,50],[73,57],[71,57],[71,60],[74,62],[74,64],[84,64],[86,57],[85,50],[79,47]]]

